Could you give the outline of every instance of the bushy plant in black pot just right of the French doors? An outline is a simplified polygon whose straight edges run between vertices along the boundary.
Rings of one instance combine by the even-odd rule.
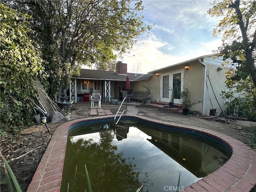
[[[192,106],[202,102],[202,101],[199,101],[199,100],[194,100],[192,102],[190,97],[191,97],[190,91],[187,88],[184,88],[184,90],[180,94],[180,98],[182,100],[182,105],[183,105],[183,110],[182,110],[182,114],[183,115],[188,115],[188,110]]]

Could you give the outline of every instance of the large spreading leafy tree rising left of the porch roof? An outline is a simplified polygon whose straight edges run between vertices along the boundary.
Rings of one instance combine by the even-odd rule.
[[[82,64],[96,66],[116,58],[150,30],[143,21],[141,0],[17,1],[12,6],[32,15],[33,36],[38,40],[50,93],[66,87]],[[54,80],[55,83],[52,83]]]

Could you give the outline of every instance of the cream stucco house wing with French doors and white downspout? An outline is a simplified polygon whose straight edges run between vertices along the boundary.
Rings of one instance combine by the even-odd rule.
[[[178,85],[180,91],[187,88],[191,92],[192,101],[202,101],[192,106],[191,110],[207,115],[216,110],[220,115],[226,110],[225,101],[220,94],[226,90],[225,71],[229,70],[222,66],[223,62],[222,57],[211,54],[151,71],[153,82],[157,86],[152,99],[169,102],[172,89]],[[179,95],[174,97],[174,103],[181,103]]]

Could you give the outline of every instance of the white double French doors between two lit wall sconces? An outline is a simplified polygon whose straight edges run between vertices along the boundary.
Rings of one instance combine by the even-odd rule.
[[[180,102],[180,92],[183,91],[183,70],[161,75],[161,101],[170,102],[172,92],[174,103]]]

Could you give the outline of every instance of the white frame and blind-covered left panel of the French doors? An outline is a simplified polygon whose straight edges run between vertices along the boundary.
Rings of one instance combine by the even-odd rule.
[[[180,75],[181,75],[180,91],[183,91],[184,70],[178,70],[178,71],[174,71],[174,72],[161,74],[160,101],[170,102],[170,97],[171,97],[172,88],[173,88],[173,75],[177,74],[177,73],[180,73]],[[164,84],[163,84],[163,82],[164,82]],[[174,98],[174,103],[181,104],[180,99]]]

